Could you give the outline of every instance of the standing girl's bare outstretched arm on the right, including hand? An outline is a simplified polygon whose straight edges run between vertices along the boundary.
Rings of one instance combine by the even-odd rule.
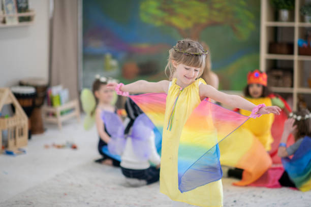
[[[204,97],[209,97],[218,102],[224,103],[225,105],[228,105],[234,108],[244,109],[247,111],[252,111],[256,107],[254,103],[242,98],[241,96],[229,95],[227,93],[223,93],[221,91],[216,90],[214,87],[210,85],[201,84],[199,86],[199,95],[201,99]],[[273,106],[273,107],[260,108],[257,113],[258,114],[273,113],[273,114],[279,115],[280,111],[281,111],[280,108]]]

